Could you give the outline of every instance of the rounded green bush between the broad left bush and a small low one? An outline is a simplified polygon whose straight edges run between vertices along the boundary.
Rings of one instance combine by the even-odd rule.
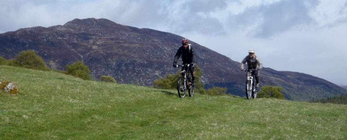
[[[90,69],[84,65],[82,61],[77,61],[74,64],[66,65],[66,74],[74,77],[82,78],[83,80],[90,80]]]

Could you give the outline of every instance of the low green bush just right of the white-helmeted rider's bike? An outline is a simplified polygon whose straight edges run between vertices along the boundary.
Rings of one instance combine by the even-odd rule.
[[[263,86],[259,91],[258,98],[277,98],[277,99],[286,99],[282,94],[282,88],[276,86]]]

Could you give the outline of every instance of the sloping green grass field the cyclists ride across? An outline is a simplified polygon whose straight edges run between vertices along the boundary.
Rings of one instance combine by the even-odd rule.
[[[1,140],[346,140],[347,105],[87,81],[0,65]]]

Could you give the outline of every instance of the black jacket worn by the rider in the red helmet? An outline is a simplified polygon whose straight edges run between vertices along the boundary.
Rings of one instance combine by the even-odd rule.
[[[177,64],[180,57],[182,57],[183,64],[195,63],[195,53],[191,44],[188,44],[186,49],[183,46],[179,47],[174,58],[174,65]]]

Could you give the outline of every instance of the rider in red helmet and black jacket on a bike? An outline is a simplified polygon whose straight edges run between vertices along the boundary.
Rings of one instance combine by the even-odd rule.
[[[172,66],[178,67],[177,61],[180,57],[182,57],[183,65],[190,64],[189,65],[189,71],[192,73],[192,80],[193,80],[193,86],[195,86],[195,52],[191,44],[189,44],[189,40],[186,38],[181,41],[182,46],[179,47],[179,49],[176,52],[176,55],[174,57],[174,63],[172,63]],[[187,67],[183,68],[182,70],[187,71]]]

